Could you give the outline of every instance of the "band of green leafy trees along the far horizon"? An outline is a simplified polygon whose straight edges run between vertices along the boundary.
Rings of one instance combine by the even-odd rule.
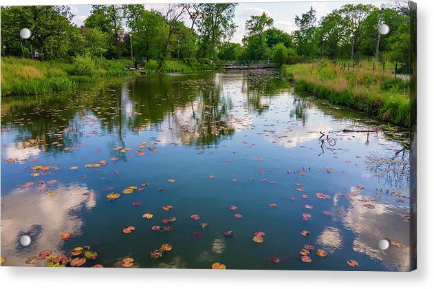
[[[32,50],[44,60],[73,61],[77,56],[131,58],[132,51],[134,60],[153,59],[158,69],[170,59],[192,66],[206,59],[284,64],[322,57],[349,59],[352,54],[358,61],[375,56],[383,15],[390,33],[381,37],[380,61],[409,64],[407,1],[383,10],[371,4],[346,4],[318,21],[311,7],[295,17],[298,30],[292,34],[275,28],[268,14],[252,15],[246,19],[242,43],[231,43],[236,6],[170,4],[157,11],[143,5],[94,5],[81,27],[72,23],[74,14],[68,6],[2,7],[1,55],[30,58]],[[21,39],[21,28],[32,31],[30,39]]]

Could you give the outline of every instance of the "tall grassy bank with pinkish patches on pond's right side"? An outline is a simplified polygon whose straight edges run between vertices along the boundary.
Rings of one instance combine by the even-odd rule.
[[[285,65],[283,73],[298,90],[364,111],[393,125],[410,126],[409,81],[395,78],[390,72],[344,70],[324,61]]]

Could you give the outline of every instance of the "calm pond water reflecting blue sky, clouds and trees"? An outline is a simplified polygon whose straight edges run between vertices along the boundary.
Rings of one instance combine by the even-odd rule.
[[[83,266],[131,257],[133,268],[409,270],[409,141],[296,94],[274,70],[2,98],[3,266],[45,266],[34,258],[43,250],[90,246],[98,258]],[[383,238],[395,246],[380,250]],[[152,258],[162,244],[173,249]]]

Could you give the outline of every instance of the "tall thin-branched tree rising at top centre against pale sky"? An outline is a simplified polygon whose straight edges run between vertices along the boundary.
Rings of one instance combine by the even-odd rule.
[[[200,15],[197,25],[202,50],[209,51],[210,58],[214,58],[216,47],[222,41],[229,40],[235,32],[235,6],[237,3],[199,4]]]

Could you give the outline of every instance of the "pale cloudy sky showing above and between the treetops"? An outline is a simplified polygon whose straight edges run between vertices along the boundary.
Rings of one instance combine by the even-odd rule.
[[[274,19],[274,27],[283,30],[284,32],[291,33],[297,30],[294,18],[296,15],[300,15],[307,12],[310,6],[316,10],[316,19],[319,21],[321,17],[332,12],[334,9],[338,9],[347,3],[371,3],[380,7],[382,3],[386,1],[316,1],[316,2],[242,2],[235,8],[235,24],[237,30],[235,31],[231,42],[241,43],[243,36],[246,34],[244,30],[244,23],[250,18],[251,15],[260,15],[262,12],[267,13],[272,19]],[[91,13],[90,5],[74,5],[70,6],[72,12],[76,15],[73,22],[80,26],[83,25],[85,19]],[[164,11],[166,5],[164,4],[145,4],[147,9],[154,8],[155,10]],[[185,21],[188,22],[188,21]]]

